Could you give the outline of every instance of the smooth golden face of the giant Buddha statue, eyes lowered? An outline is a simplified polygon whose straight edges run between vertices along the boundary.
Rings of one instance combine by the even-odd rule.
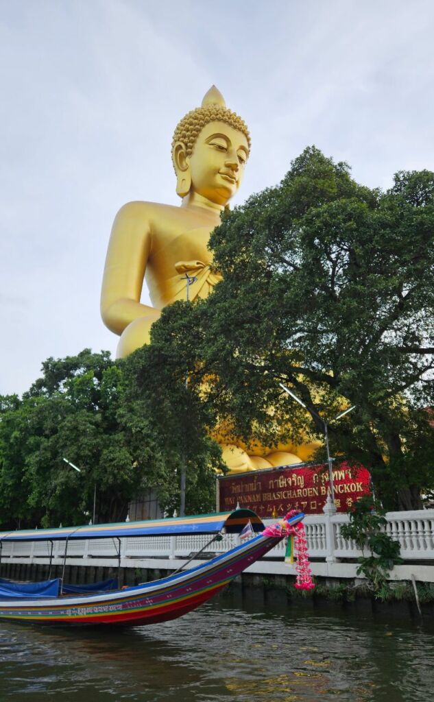
[[[244,176],[249,145],[244,134],[225,122],[206,124],[199,133],[190,168],[191,189],[211,202],[225,206]]]

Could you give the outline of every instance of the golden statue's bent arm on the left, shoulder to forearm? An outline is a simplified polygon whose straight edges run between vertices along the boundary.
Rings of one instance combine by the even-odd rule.
[[[159,310],[140,303],[151,248],[148,215],[146,203],[129,202],[114,220],[105,260],[101,316],[117,334],[139,317],[152,321],[159,317]]]

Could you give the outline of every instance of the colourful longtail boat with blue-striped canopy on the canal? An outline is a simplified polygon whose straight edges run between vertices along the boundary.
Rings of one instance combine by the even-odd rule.
[[[63,574],[67,544],[77,539],[119,540],[131,536],[213,534],[213,541],[222,532],[240,534],[246,531],[246,528],[257,534],[252,535],[245,543],[240,543],[228,552],[196,567],[157,581],[116,590],[107,591],[104,589],[105,585],[100,583],[101,589],[97,592],[96,585],[93,584],[87,587],[80,585],[74,594],[65,594],[71,593],[71,588],[62,587],[63,578],[38,583],[33,588],[32,584],[20,585],[0,581],[0,618],[61,625],[144,625],[175,619],[209,600],[233,578],[274,548],[282,538],[294,534],[296,529],[301,527],[303,517],[303,514],[287,515],[284,520],[265,528],[261,519],[251,510],[235,510],[214,515],[146,522],[0,532],[0,555],[3,543],[11,541],[44,540],[51,542],[51,545],[53,541],[65,541]],[[86,592],[79,591],[82,589]]]

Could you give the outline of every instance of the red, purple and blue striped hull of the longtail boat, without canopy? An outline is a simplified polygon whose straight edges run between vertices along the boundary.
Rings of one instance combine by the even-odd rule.
[[[256,536],[196,568],[115,592],[0,601],[0,618],[62,625],[168,621],[216,595],[279,541],[275,536]]]

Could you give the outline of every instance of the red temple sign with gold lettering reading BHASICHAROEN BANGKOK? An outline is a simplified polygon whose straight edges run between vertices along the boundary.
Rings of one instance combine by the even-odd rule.
[[[370,479],[366,468],[350,468],[348,463],[334,468],[334,502],[338,512],[347,512],[356,500],[371,494]],[[280,517],[294,509],[307,515],[320,514],[329,493],[329,470],[317,464],[218,478],[221,512],[235,509],[238,503],[264,518]]]

